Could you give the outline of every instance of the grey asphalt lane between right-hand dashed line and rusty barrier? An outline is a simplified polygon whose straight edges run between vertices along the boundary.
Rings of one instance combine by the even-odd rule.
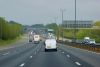
[[[100,67],[100,53],[61,44],[59,47],[94,67]]]

